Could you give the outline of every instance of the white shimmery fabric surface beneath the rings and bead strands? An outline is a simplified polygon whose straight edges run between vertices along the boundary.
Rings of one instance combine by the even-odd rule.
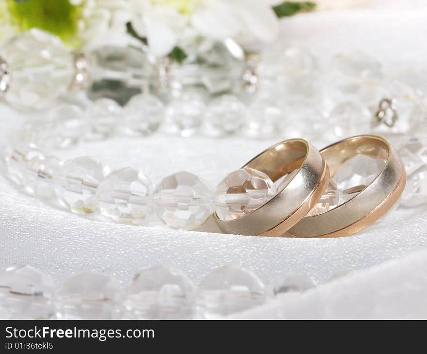
[[[420,9],[309,14],[285,20],[281,40],[302,44],[324,60],[336,52],[362,49],[390,66],[425,66],[425,18],[426,11]],[[0,139],[19,125],[20,117],[0,106]],[[215,185],[272,143],[155,135],[87,143],[61,157],[91,155],[112,168],[130,165],[145,171],[154,183],[188,170]],[[160,263],[181,268],[196,283],[213,267],[227,263],[254,271],[264,282],[282,271],[323,282],[337,272],[361,270],[424,249],[426,231],[426,208],[397,209],[343,239],[257,238],[115,225],[53,209],[0,177],[0,266],[31,264],[58,283],[70,274],[95,269],[126,284],[139,269]]]

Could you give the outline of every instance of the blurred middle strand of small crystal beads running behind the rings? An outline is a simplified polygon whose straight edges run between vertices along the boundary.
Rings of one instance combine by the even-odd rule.
[[[7,73],[1,76],[0,87],[7,89],[8,77]],[[400,91],[392,90],[395,86]],[[99,140],[117,133],[145,136],[158,129],[182,136],[201,132],[213,137],[239,134],[256,139],[304,136],[311,141],[319,137],[319,131],[328,141],[370,130],[381,134],[426,134],[422,127],[421,130],[416,127],[427,116],[427,105],[414,96],[411,88],[404,86],[402,89],[401,86],[395,84],[389,93],[385,93],[397,97],[398,118],[393,127],[373,121],[372,111],[376,110],[379,101],[373,101],[367,106],[357,100],[343,98],[325,111],[317,104],[311,104],[310,100],[303,102],[299,98],[290,97],[283,103],[267,90],[266,93],[261,91],[248,106],[233,95],[219,96],[206,104],[206,99],[201,95],[185,94],[164,104],[156,96],[140,94],[132,97],[124,107],[109,98],[93,102],[86,98],[75,102],[85,106],[85,110],[69,103],[59,104],[50,110],[47,121],[35,119],[29,128],[35,134],[44,124],[49,126],[52,134],[44,142],[45,145],[55,142],[57,145],[67,145],[84,139]],[[4,89],[0,88],[2,91]],[[324,124],[325,118],[329,125]]]

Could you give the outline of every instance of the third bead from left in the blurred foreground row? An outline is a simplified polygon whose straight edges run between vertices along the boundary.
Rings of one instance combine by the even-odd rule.
[[[137,273],[125,301],[125,318],[190,319],[194,317],[195,285],[186,274],[166,266]]]

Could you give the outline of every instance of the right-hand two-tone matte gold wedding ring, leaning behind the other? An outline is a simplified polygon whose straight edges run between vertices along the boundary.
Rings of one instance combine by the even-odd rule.
[[[348,159],[364,154],[384,159],[378,176],[360,193],[324,213],[307,216],[288,230],[291,237],[342,237],[373,224],[398,200],[406,184],[406,172],[393,146],[381,136],[360,135],[320,150],[331,176]]]

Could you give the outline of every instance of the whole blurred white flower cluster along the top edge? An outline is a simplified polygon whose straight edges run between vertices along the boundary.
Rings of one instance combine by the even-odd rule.
[[[127,45],[126,23],[164,57],[175,46],[191,51],[201,39],[233,38],[243,47],[273,42],[279,31],[277,0],[70,0],[82,6],[85,47]]]

